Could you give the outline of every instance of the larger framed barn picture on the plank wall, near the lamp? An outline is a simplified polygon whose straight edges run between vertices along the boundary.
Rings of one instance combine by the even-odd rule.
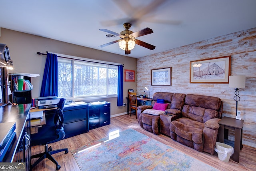
[[[190,61],[190,83],[228,84],[231,56]]]

